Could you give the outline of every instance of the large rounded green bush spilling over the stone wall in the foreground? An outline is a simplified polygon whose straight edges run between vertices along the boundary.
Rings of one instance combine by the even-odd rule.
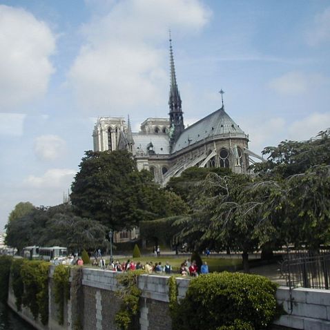
[[[268,329],[278,316],[276,284],[244,273],[213,273],[191,280],[174,330]]]

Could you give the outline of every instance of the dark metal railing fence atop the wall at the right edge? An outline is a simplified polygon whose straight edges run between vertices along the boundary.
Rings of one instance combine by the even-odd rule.
[[[330,284],[330,254],[288,253],[281,263],[282,276],[288,287],[328,289]]]

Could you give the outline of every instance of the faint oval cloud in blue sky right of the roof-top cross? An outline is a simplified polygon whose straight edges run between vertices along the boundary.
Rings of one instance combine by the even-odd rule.
[[[282,95],[300,95],[320,86],[324,81],[326,79],[317,73],[288,72],[271,80],[268,86]]]

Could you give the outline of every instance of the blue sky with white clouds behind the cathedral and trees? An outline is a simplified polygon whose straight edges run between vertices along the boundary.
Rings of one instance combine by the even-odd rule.
[[[221,106],[249,148],[330,127],[329,0],[0,0],[0,231],[60,204],[99,116],[168,116],[171,29],[185,124]]]

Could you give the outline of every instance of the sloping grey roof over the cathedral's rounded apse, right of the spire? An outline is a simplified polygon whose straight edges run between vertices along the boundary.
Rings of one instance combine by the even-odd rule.
[[[244,131],[229,117],[223,107],[200,119],[195,124],[188,126],[177,139],[172,153],[206,139],[221,137],[247,139]]]

